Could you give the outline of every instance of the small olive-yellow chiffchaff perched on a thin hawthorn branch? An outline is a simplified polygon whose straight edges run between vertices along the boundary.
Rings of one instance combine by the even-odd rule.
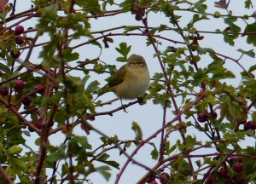
[[[143,56],[131,55],[108,80],[108,91],[113,91],[120,99],[132,100],[140,97],[148,89],[150,76]]]

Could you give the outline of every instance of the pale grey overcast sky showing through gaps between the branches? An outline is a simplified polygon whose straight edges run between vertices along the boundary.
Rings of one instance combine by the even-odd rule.
[[[226,11],[224,9],[216,9],[214,8],[214,2],[208,1],[208,7],[210,9],[207,10],[208,13],[214,13],[214,11],[219,11],[221,14],[226,14]],[[241,13],[241,7],[244,7],[243,1],[231,1],[230,3],[230,9],[232,9],[233,14],[236,15],[242,15]],[[31,1],[29,0],[23,0],[22,5],[21,1],[17,1],[17,11],[16,13],[19,13],[22,9],[29,9],[31,5]],[[118,9],[117,7],[113,9]],[[253,11],[250,10],[247,14],[252,14]],[[179,12],[178,14],[182,14],[183,17],[181,20],[179,20],[179,24],[181,26],[186,26],[187,23],[189,23],[189,20],[191,19],[191,14],[188,12]],[[225,25],[223,23],[223,20],[220,19],[212,19],[211,20],[204,20],[199,23],[196,23],[195,26],[199,31],[211,31],[214,32],[216,29],[223,30]],[[245,23],[242,20],[238,21],[242,26],[245,25]],[[99,18],[97,20],[90,20],[91,23],[91,30],[92,31],[100,31],[104,29],[108,29],[115,26],[125,26],[125,25],[131,25],[131,26],[143,26],[141,22],[138,22],[134,19],[134,15],[131,15],[130,13],[126,14],[118,14],[114,17],[105,17],[105,18]],[[164,14],[148,14],[148,26],[160,26],[160,24],[166,24],[167,26],[172,25],[168,22],[168,19],[165,17]],[[35,20],[28,20],[24,23],[22,23],[25,28],[31,27],[35,25]],[[122,31],[118,31],[122,32]],[[172,38],[174,40],[182,41],[182,38],[177,35],[176,32],[165,32],[163,33],[166,37]],[[217,35],[217,34],[201,34],[205,37],[204,40],[200,41],[201,47],[206,48],[212,48],[216,52],[228,55],[233,58],[239,58],[240,53],[236,52],[237,49],[254,49],[252,45],[247,45],[246,43],[246,37],[240,37],[236,41],[235,47],[230,47],[227,43],[224,43],[223,36]],[[123,65],[123,63],[116,62],[115,59],[119,57],[119,53],[115,50],[116,47],[119,46],[119,43],[125,42],[128,45],[131,45],[131,53],[130,54],[137,54],[137,55],[143,55],[143,57],[147,60],[148,63],[148,70],[150,72],[151,77],[154,75],[155,72],[161,72],[160,66],[158,63],[158,60],[156,58],[153,58],[154,55],[154,49],[152,46],[146,46],[145,40],[147,37],[113,37],[113,43],[110,43],[109,49],[103,49],[101,60],[103,60],[106,63],[117,65],[117,68]],[[44,37],[41,37],[40,40],[44,41]],[[87,38],[83,37],[80,40],[77,40],[76,42],[72,44],[76,44],[77,42],[81,43],[84,42]],[[174,43],[167,43],[166,41],[160,40],[162,42],[162,45],[159,46],[159,49],[162,51],[166,49],[167,46],[173,46],[173,47],[181,47],[182,45],[174,44]],[[100,41],[102,43],[102,41]],[[170,45],[171,44],[171,45]],[[40,62],[40,59],[38,59],[38,52],[39,48],[35,49],[32,54],[32,60]],[[80,54],[80,60],[84,60],[85,58],[93,59],[98,57],[100,54],[100,49],[98,49],[96,46],[90,46],[85,45],[79,49],[76,49],[76,52],[79,52]],[[24,57],[26,53],[21,55]],[[24,59],[24,58],[23,58]],[[210,60],[207,60],[208,57],[203,58],[204,60],[201,60],[199,63],[199,66],[207,66]],[[249,66],[252,66],[255,63],[255,59],[249,58],[247,56],[243,57],[241,59],[241,65],[245,66],[245,68],[248,68]],[[234,62],[227,60],[225,66],[227,66],[232,72],[235,74],[239,74],[241,72],[241,68],[236,66]],[[236,67],[236,69],[234,69]],[[80,75],[79,73],[76,75]],[[93,80],[100,80],[102,82],[102,86],[106,83],[104,79],[108,78],[108,74],[97,76],[97,75],[91,75],[90,81]],[[238,85],[240,83],[240,79],[236,78],[235,80],[229,80],[229,83]],[[115,98],[115,95],[108,94],[101,97],[102,101],[110,101]],[[125,101],[125,103],[128,103],[129,101]],[[109,106],[103,106],[98,107],[96,109],[97,112],[105,112],[112,110],[116,107],[120,106],[120,101],[115,101],[112,105]],[[143,129],[143,138],[147,138],[149,135],[154,134],[154,132],[157,129],[160,129],[162,124],[162,118],[163,118],[163,111],[162,107],[160,105],[154,105],[152,101],[148,101],[148,103],[144,106],[140,106],[136,104],[135,106],[130,106],[127,108],[127,112],[125,113],[123,111],[115,112],[113,113],[113,116],[101,116],[96,117],[96,120],[92,122],[92,125],[96,127],[96,129],[101,130],[104,134],[108,136],[118,135],[120,140],[130,140],[134,138],[134,133],[131,129],[131,123],[133,121],[136,121],[137,124],[141,126]],[[167,113],[167,121],[172,120],[174,116],[172,115],[172,110],[168,110]],[[183,120],[185,120],[183,118]],[[189,129],[191,131],[191,135],[197,134],[194,129]],[[76,134],[78,135],[85,135],[83,130],[80,130],[79,127],[75,129]],[[27,138],[27,143],[29,145],[33,145],[33,141],[37,135],[32,134],[31,138]],[[57,139],[56,139],[57,137]],[[204,135],[201,136],[201,139],[205,139],[206,137]],[[180,135],[177,133],[173,133],[170,135],[170,140],[172,143],[174,143],[177,139],[180,139]],[[58,133],[56,135],[52,135],[49,137],[50,142],[52,142],[55,145],[59,145],[64,140],[64,135],[61,133]],[[88,135],[88,140],[90,144],[93,145],[94,148],[98,147],[102,142],[99,141],[99,135],[97,135],[94,132],[90,132],[90,135]],[[156,137],[154,140],[155,143],[159,143],[160,137]],[[247,144],[254,144],[254,141],[251,139],[251,141],[247,141]],[[128,152],[132,152],[134,147],[131,147],[127,149]],[[153,150],[153,147],[151,146],[145,146],[143,147],[136,155],[135,159],[139,160],[141,163],[148,165],[148,167],[152,167],[155,163],[152,160],[150,153]],[[126,161],[126,158],[124,156],[119,156],[119,150],[114,150],[113,152],[109,152],[111,154],[111,157],[113,160],[117,160],[120,163],[120,167],[122,167],[122,164]],[[97,164],[102,165],[102,164]],[[112,169],[113,175],[111,177],[111,180],[108,183],[113,183],[115,180],[115,175],[119,172],[119,170]],[[121,180],[119,183],[121,184],[131,184],[136,183],[136,181],[141,178],[147,171],[143,170],[142,168],[129,164],[128,168],[125,170],[124,175],[121,177]],[[94,183],[106,183],[106,181],[102,178],[99,174],[93,174],[90,176],[90,179]]]

